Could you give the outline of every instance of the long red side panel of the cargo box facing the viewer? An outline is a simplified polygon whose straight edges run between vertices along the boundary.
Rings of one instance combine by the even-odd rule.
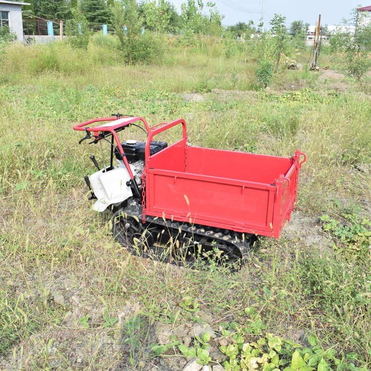
[[[147,215],[272,235],[274,186],[159,169],[146,174]]]

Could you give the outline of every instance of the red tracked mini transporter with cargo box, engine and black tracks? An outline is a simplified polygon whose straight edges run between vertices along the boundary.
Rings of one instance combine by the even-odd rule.
[[[193,261],[197,253],[241,266],[256,235],[278,237],[295,208],[300,151],[265,156],[190,146],[183,119],[152,127],[141,117],[94,119],[75,125],[80,140],[110,143],[110,163],[85,181],[93,209],[113,212],[112,232],[135,254]],[[91,127],[92,124],[106,122]],[[118,133],[141,126],[145,142],[121,142]],[[155,137],[177,125],[182,138]],[[116,162],[116,163],[114,163]],[[170,242],[169,242],[170,241]]]

